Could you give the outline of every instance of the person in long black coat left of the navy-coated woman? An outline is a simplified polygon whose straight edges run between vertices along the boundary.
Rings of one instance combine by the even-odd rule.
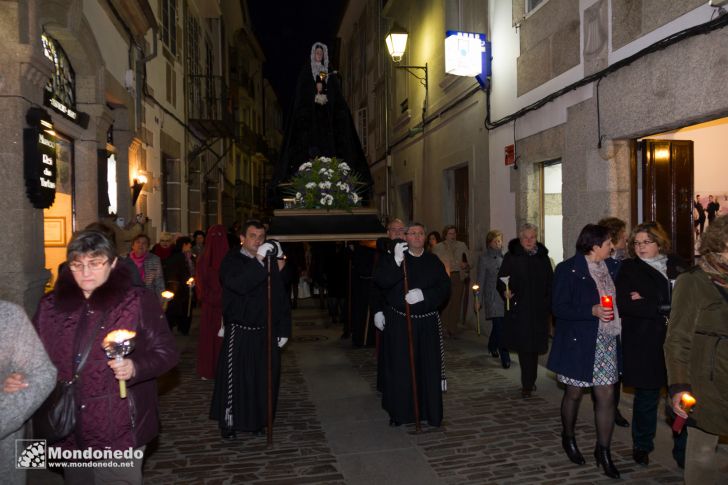
[[[508,243],[508,253],[498,272],[498,292],[504,300],[510,300],[506,306],[503,345],[518,352],[523,397],[531,396],[538,355],[548,350],[554,276],[548,249],[536,240],[536,234],[535,225],[522,225],[518,239]]]

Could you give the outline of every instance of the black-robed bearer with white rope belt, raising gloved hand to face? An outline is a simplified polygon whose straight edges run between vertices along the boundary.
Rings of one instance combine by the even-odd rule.
[[[280,385],[282,348],[291,335],[291,308],[280,270],[283,254],[277,242],[265,241],[265,227],[246,222],[235,247],[220,266],[225,337],[215,376],[210,418],[219,421],[223,438],[236,431],[262,435],[267,423],[267,317],[272,311],[271,343],[273,414]],[[271,304],[268,304],[268,254]],[[276,260],[276,257],[278,258]]]

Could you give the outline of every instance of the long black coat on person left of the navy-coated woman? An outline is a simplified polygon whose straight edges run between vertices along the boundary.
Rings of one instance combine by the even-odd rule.
[[[516,352],[545,353],[548,350],[551,284],[554,276],[548,249],[537,243],[529,255],[518,239],[508,243],[498,281],[498,292],[505,301],[506,285],[500,278],[510,276],[510,310],[506,310],[503,346]]]

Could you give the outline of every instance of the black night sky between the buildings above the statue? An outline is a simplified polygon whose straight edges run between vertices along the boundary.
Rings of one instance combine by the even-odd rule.
[[[253,30],[266,58],[263,73],[278,94],[284,117],[293,102],[301,68],[310,65],[314,42],[321,41],[329,47],[329,68],[338,68],[336,31],[346,3],[346,0],[248,2]]]

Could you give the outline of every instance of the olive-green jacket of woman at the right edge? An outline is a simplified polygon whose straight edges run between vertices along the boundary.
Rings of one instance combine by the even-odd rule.
[[[728,435],[728,290],[698,267],[675,283],[664,349],[670,394],[690,391],[697,426]]]

